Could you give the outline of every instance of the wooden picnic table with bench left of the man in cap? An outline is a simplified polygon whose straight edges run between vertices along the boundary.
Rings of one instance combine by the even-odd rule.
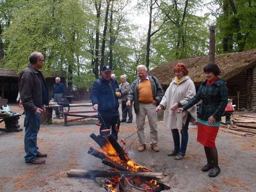
[[[68,126],[69,122],[74,122],[74,121],[79,121],[82,119],[87,119],[87,118],[98,118],[98,113],[97,111],[70,111],[70,108],[75,108],[75,107],[92,107],[92,103],[76,103],[76,104],[69,104],[69,105],[49,105],[46,106],[47,108],[47,115],[52,114],[52,109],[54,107],[64,107],[64,111],[60,112],[61,114],[64,114],[64,123],[66,126]],[[81,115],[82,113],[96,113],[93,115]],[[68,119],[68,116],[75,116],[79,117],[76,119]],[[52,116],[50,117],[52,119]]]

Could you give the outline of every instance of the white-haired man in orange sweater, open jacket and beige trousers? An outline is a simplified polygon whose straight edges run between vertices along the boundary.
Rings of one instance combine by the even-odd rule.
[[[147,115],[150,126],[151,148],[153,151],[158,152],[160,150],[157,147],[157,112],[155,108],[161,102],[164,91],[158,79],[148,75],[145,65],[138,65],[137,74],[139,78],[131,84],[126,105],[129,106],[134,102],[137,134],[140,142],[138,151],[144,151],[146,148],[144,125],[145,116]]]

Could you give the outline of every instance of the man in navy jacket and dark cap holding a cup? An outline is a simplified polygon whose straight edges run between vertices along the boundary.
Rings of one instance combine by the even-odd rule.
[[[121,98],[121,91],[116,84],[116,80],[111,78],[112,67],[103,66],[102,78],[94,82],[90,99],[92,100],[93,109],[98,110],[99,122],[102,124],[99,131],[100,135],[107,135],[109,132],[102,130],[110,129],[111,134],[117,140],[117,134],[120,125],[119,119],[119,103],[118,98]]]

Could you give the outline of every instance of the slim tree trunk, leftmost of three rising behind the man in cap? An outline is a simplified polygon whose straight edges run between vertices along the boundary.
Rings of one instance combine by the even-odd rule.
[[[97,24],[96,24],[96,44],[95,44],[95,66],[93,73],[96,79],[99,79],[99,20],[100,20],[100,9],[101,9],[102,0],[99,0],[99,6],[97,0],[95,0],[95,8],[97,12]]]

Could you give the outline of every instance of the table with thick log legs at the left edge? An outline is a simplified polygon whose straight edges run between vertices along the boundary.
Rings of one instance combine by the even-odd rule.
[[[18,132],[23,131],[22,128],[20,128],[19,125],[19,119],[20,114],[14,114],[12,116],[2,116],[0,117],[0,123],[4,121],[5,128],[0,128],[0,131],[6,131],[6,132]]]

